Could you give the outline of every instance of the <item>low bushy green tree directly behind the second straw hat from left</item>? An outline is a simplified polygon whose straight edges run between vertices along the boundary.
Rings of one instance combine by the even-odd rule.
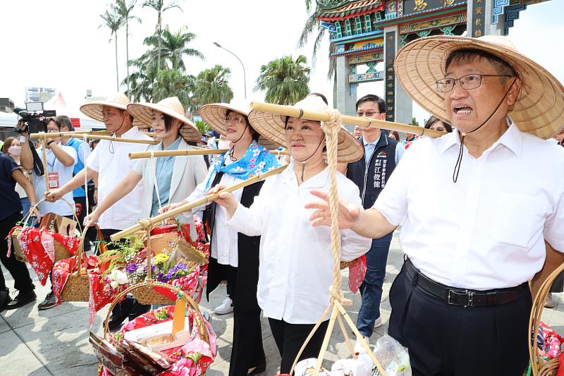
[[[178,69],[159,71],[157,82],[153,87],[153,101],[158,102],[161,99],[176,96],[184,108],[188,108],[194,90],[194,81],[193,75],[185,75]]]

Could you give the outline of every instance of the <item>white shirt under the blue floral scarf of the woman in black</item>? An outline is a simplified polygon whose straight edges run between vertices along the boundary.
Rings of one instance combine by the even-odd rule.
[[[225,164],[229,165],[233,162],[229,157],[225,159]],[[207,195],[206,190],[206,183],[208,179],[214,180],[215,173],[213,169],[213,165],[210,167],[208,174],[202,183],[198,184],[194,192],[192,192],[186,201],[192,202],[195,200],[199,200]],[[220,184],[224,184],[225,186],[233,186],[233,184],[240,183],[241,180],[239,178],[235,178],[233,175],[223,174],[221,176],[221,180],[219,181]],[[212,189],[212,183],[209,184],[208,190]],[[240,202],[241,196],[243,196],[243,188],[235,190],[233,192],[233,196],[235,200]],[[209,205],[209,204],[208,204]],[[203,206],[205,207],[205,206]],[[192,213],[199,212],[203,208],[195,207],[192,209]],[[217,260],[217,262],[221,265],[231,265],[232,267],[238,267],[239,262],[239,255],[238,255],[238,231],[231,229],[227,226],[228,214],[227,210],[221,205],[216,206],[215,211],[215,219],[214,219],[214,234],[212,236],[212,244],[210,245],[210,252],[212,257]]]

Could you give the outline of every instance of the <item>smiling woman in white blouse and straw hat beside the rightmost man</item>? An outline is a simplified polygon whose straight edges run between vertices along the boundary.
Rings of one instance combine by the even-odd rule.
[[[320,97],[309,96],[295,105],[300,109],[325,111]],[[228,225],[249,236],[261,235],[258,302],[281,353],[281,373],[289,373],[307,334],[329,305],[333,257],[329,227],[313,227],[305,204],[310,190],[329,192],[329,170],[324,160],[325,137],[319,121],[293,119],[264,112],[251,112],[250,122],[265,137],[286,145],[292,160],[288,168],[266,179],[250,208],[239,205],[231,193],[216,202],[225,207]],[[362,157],[362,147],[353,135],[339,133],[338,162]],[[337,174],[341,198],[360,205],[357,186]],[[212,192],[223,188],[216,186]],[[341,230],[341,260],[360,257],[371,240],[350,230]],[[303,358],[319,354],[328,320],[314,334]]]

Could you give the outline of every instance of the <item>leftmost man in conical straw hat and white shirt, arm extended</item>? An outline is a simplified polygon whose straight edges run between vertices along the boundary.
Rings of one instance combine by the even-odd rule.
[[[108,97],[104,101],[83,104],[80,111],[90,118],[103,121],[106,130],[114,133],[114,136],[135,140],[151,140],[149,136],[141,133],[137,126],[133,125],[133,116],[127,111],[130,104],[128,97],[118,93]],[[147,145],[101,140],[86,161],[85,169],[76,174],[71,181],[59,189],[51,190],[47,195],[50,202],[59,200],[63,195],[81,186],[87,179],[94,178],[98,181],[97,200],[102,202],[104,198],[114,189],[118,183],[133,169],[135,161],[129,159],[130,152],[141,152]],[[111,234],[133,226],[137,220],[142,219],[141,207],[143,186],[139,182],[135,188],[116,202],[116,205],[106,210],[99,218],[99,228],[104,239],[109,240]],[[145,308],[148,310],[149,306]],[[121,317],[114,317],[115,322],[121,322]],[[114,320],[112,320],[114,322]]]

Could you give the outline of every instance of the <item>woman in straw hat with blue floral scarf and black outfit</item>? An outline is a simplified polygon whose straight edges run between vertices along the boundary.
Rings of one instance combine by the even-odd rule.
[[[231,142],[210,167],[204,182],[185,200],[164,207],[162,212],[186,202],[198,200],[207,190],[220,183],[231,186],[256,174],[278,166],[278,160],[266,148],[276,147],[259,137],[247,119],[250,106],[240,104],[207,104],[200,109],[204,121]],[[258,195],[264,181],[252,184],[233,193],[233,200],[248,207]],[[195,208],[194,211],[201,208]],[[227,281],[227,298],[222,306],[233,307],[233,347],[229,361],[229,375],[257,375],[266,370],[266,357],[262,346],[260,308],[257,303],[259,278],[259,234],[245,236],[226,225],[228,217],[223,207],[209,205],[204,212],[211,237],[211,258],[208,267],[207,298],[221,281]],[[221,308],[221,306],[220,306]],[[224,310],[228,313],[231,310]],[[216,313],[218,311],[216,310]]]

